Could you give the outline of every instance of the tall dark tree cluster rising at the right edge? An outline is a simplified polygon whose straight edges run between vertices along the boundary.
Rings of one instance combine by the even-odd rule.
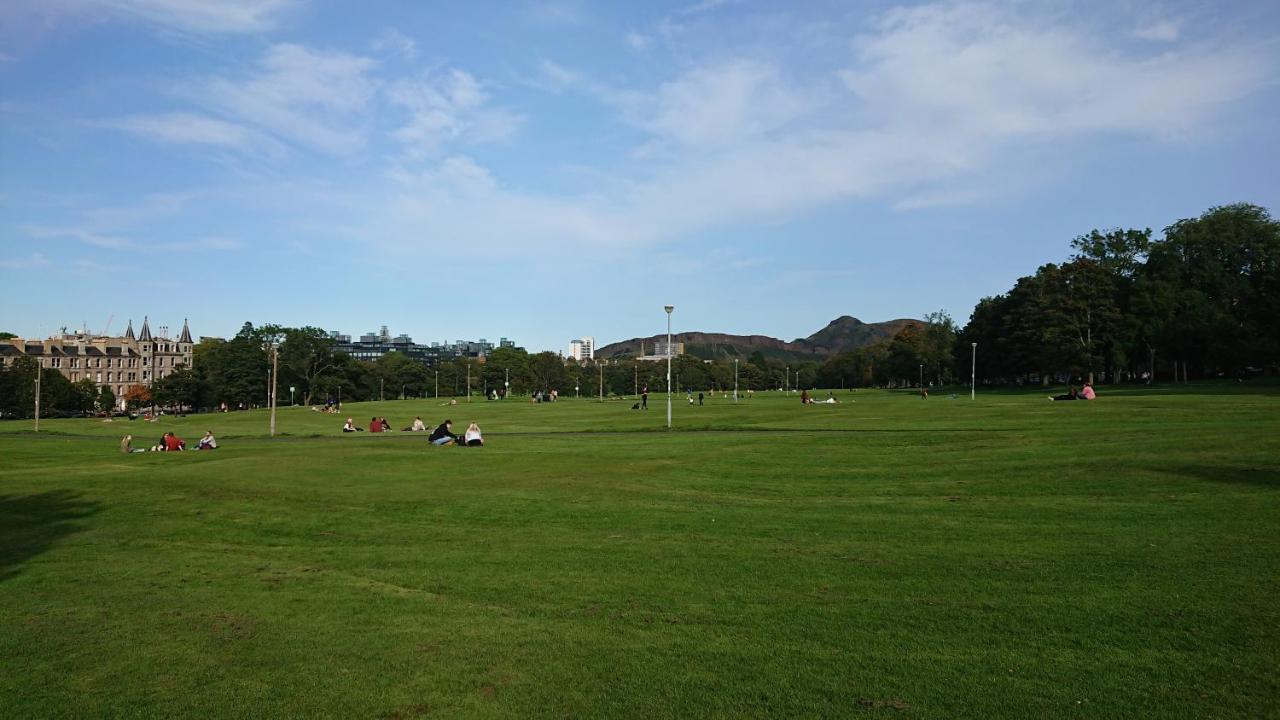
[[[1074,254],[982,299],[952,366],[978,378],[1187,380],[1280,363],[1280,223],[1249,204],[1165,228],[1093,231]]]

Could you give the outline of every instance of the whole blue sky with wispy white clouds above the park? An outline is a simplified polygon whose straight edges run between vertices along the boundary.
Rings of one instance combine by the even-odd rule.
[[[0,6],[0,329],[564,350],[974,302],[1280,211],[1275,3]]]

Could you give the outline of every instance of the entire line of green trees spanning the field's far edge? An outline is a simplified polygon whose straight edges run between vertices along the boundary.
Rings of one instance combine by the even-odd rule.
[[[822,363],[787,364],[754,352],[672,361],[672,389],[910,387],[969,379],[1048,383],[1055,378],[1125,382],[1274,372],[1280,363],[1280,223],[1257,205],[1212,208],[1165,228],[1092,231],[1064,263],[1042,265],[1007,292],[978,301],[964,328],[945,311],[906,324],[870,346]],[[8,333],[3,333],[8,336]],[[12,336],[8,336],[12,337]],[[667,364],[620,359],[577,363],[554,352],[500,347],[484,361],[457,357],[428,368],[399,352],[366,361],[334,350],[321,328],[255,327],[195,347],[193,366],[125,392],[131,409],[151,405],[266,405],[273,354],[278,404],[456,397],[493,392],[561,397],[666,392]],[[32,357],[0,368],[0,414],[31,416],[41,373],[44,413],[109,411],[116,398],[90,380],[41,372]],[[289,393],[288,388],[293,388]]]

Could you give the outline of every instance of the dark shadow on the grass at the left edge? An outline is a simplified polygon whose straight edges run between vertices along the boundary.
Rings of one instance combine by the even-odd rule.
[[[69,489],[38,495],[0,495],[0,582],[46,552],[59,539],[84,529],[79,520],[101,511],[100,502]]]

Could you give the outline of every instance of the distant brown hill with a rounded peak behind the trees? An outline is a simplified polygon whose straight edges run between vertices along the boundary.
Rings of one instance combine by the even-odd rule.
[[[897,319],[883,323],[864,323],[858,318],[842,315],[827,323],[827,327],[809,337],[791,342],[763,334],[726,334],[687,332],[673,333],[672,340],[685,343],[685,352],[704,360],[722,357],[748,357],[759,351],[767,359],[782,361],[822,361],[828,356],[846,350],[865,347],[881,340],[893,337],[908,323],[923,320]],[[666,334],[634,337],[596,348],[598,357],[634,357],[641,354],[652,355],[654,343],[667,340]],[[641,346],[644,352],[641,352]]]

